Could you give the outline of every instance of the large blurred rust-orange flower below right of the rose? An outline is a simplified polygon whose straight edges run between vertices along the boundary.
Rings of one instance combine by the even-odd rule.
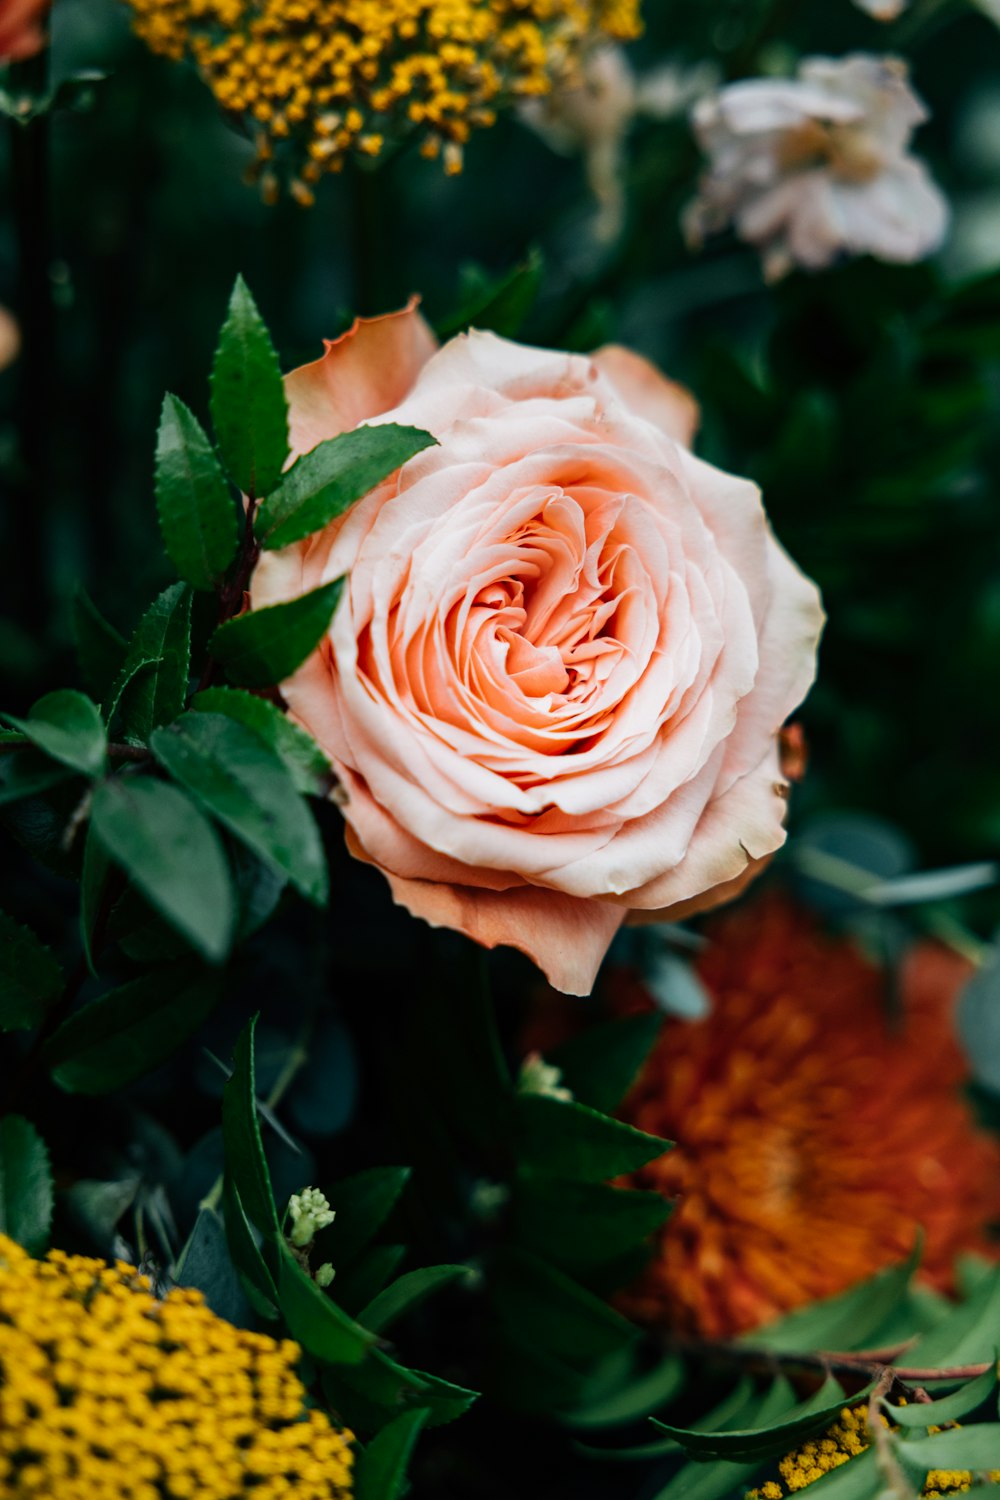
[[[723,916],[699,960],[714,998],[667,1020],[624,1116],[678,1142],[634,1179],[678,1198],[630,1314],[709,1338],[759,1326],[897,1262],[949,1290],[1000,1220],[1000,1146],[961,1096],[952,1010],[970,966],[924,942],[886,980],[781,897]],[[612,974],[616,1008],[651,1000]]]

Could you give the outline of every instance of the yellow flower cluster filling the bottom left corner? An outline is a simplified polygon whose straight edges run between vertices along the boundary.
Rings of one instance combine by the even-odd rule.
[[[0,1236],[0,1500],[346,1500],[352,1438],[306,1410],[298,1353]]]

